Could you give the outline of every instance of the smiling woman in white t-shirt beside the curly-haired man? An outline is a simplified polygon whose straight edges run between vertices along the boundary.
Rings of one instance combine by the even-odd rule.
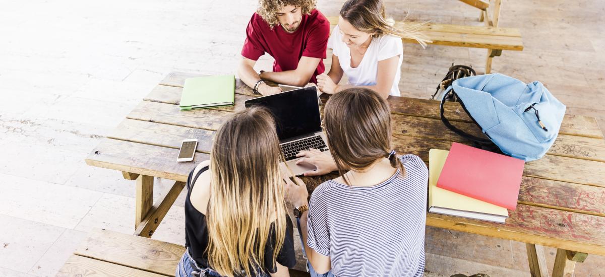
[[[386,18],[381,0],[348,0],[342,5],[338,25],[332,30],[328,48],[332,48],[332,67],[328,74],[317,76],[317,86],[328,94],[353,86],[370,88],[386,99],[401,96],[399,79],[403,61],[402,37],[419,37],[419,25],[393,27]],[[348,84],[337,85],[347,74]]]

